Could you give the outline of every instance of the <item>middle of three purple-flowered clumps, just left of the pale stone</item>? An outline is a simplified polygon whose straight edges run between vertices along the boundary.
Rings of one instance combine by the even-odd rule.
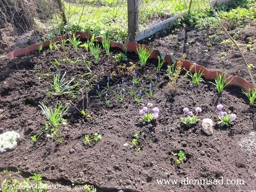
[[[188,107],[183,108],[184,117],[181,118],[180,123],[185,126],[190,126],[198,123],[197,115],[202,112],[201,107],[195,108],[196,114],[194,115],[192,111],[189,111]]]

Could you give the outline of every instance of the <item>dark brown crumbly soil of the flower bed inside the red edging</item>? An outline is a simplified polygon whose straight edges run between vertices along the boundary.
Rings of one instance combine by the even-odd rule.
[[[195,34],[195,31],[192,33]],[[200,35],[196,37],[199,38]],[[169,41],[165,45],[172,44]],[[164,45],[159,48],[164,48]],[[176,49],[169,47],[170,50],[177,51],[180,48],[181,45]],[[124,68],[122,63],[117,64],[113,59],[118,53],[120,51],[117,49],[111,49],[109,55],[101,51],[99,62],[96,63],[90,52],[85,49],[75,51],[68,45],[65,52],[45,49],[41,54],[33,52],[12,61],[2,60],[1,133],[17,131],[21,134],[21,140],[15,150],[0,154],[0,167],[17,167],[23,171],[41,173],[47,178],[64,177],[74,182],[90,182],[100,187],[131,188],[137,191],[255,190],[255,156],[239,145],[255,130],[255,108],[248,105],[241,90],[229,87],[218,95],[212,84],[204,82],[192,85],[185,75],[181,75],[176,84],[170,85],[165,77],[165,66],[158,75],[159,85],[153,84],[152,99],[145,92],[148,94],[150,79],[154,79],[156,74],[157,61],[150,60],[142,69],[139,67],[138,57],[128,53]],[[234,54],[230,58],[238,60]],[[54,59],[65,57],[83,60],[81,55],[88,61],[90,70],[82,61],[77,64],[63,61],[60,67],[51,64]],[[191,55],[195,61],[204,58],[202,52],[192,54],[191,51]],[[188,57],[191,55],[188,54]],[[213,56],[204,59],[207,67],[211,64],[212,67],[216,66],[218,61]],[[222,61],[223,68],[219,68],[232,68],[231,72],[234,72],[230,63],[228,61],[226,66],[226,62]],[[137,91],[143,90],[140,104],[129,95],[133,69],[141,78],[139,84],[133,88]],[[90,71],[92,75],[89,75]],[[53,75],[64,72],[66,80],[74,77],[73,82],[79,82],[76,88],[79,90],[77,97],[49,94]],[[92,88],[87,98],[85,85],[92,76]],[[107,76],[110,77],[110,90],[107,92],[111,102],[109,106],[106,105],[104,96],[99,98],[96,93],[97,84],[101,90],[107,87]],[[119,92],[117,84],[125,90],[123,102],[113,94],[114,91]],[[90,114],[87,118],[79,111],[83,109],[83,100],[85,110]],[[87,101],[90,107],[86,109]],[[63,137],[62,143],[46,137],[47,133],[42,134],[37,143],[32,143],[31,136],[39,134],[47,123],[38,107],[40,102],[52,108],[58,102],[69,107],[64,116],[67,124],[58,127]],[[139,120],[139,110],[147,102],[152,102],[160,110],[159,118],[151,124],[143,124]],[[217,123],[216,105],[220,103],[224,105],[225,111],[237,114],[237,120],[231,128],[221,128],[215,124],[213,135],[207,136],[201,131],[202,119],[212,118]],[[180,125],[184,107],[192,111],[195,111],[195,107],[202,108],[202,112],[198,114],[198,124],[189,128]],[[139,152],[134,147],[124,146],[127,141],[132,141],[135,131],[140,131]],[[100,133],[102,139],[84,144],[84,135],[94,133]],[[185,152],[186,160],[178,165],[175,164],[172,152],[179,150]],[[223,177],[224,184],[180,184],[186,177],[192,180],[220,180]],[[157,184],[160,179],[176,179],[178,184]],[[236,184],[226,184],[227,180],[232,179],[236,180]],[[243,180],[244,184],[238,181],[238,185],[237,180]]]

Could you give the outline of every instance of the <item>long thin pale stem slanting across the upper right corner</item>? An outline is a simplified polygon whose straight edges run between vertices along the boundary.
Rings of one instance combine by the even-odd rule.
[[[214,6],[212,6],[211,1],[208,0],[208,2],[209,2],[209,4],[210,4],[210,6],[211,6],[212,12],[214,13],[216,19],[217,19],[218,22],[219,22],[219,25],[221,25],[222,29],[223,29],[223,30],[225,31],[225,33],[228,35],[229,39],[231,39],[231,41],[234,43],[235,47],[237,47],[238,51],[240,52],[241,57],[242,57],[242,60],[244,61],[245,67],[247,68],[248,74],[250,75],[251,81],[252,81],[252,83],[254,84],[254,86],[256,87],[256,84],[255,84],[255,81],[254,81],[254,77],[252,76],[251,71],[250,71],[250,69],[248,68],[248,64],[247,64],[247,61],[245,60],[244,54],[242,53],[241,49],[238,47],[238,45],[237,45],[237,43],[235,42],[235,40],[231,37],[231,35],[229,34],[228,30],[227,30],[227,29],[224,27],[224,25],[222,24],[221,19],[219,19],[218,14],[217,14],[216,11],[214,10]]]

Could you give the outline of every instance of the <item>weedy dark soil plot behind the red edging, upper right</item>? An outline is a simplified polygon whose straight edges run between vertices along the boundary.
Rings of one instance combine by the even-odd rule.
[[[255,66],[255,23],[252,22],[241,28],[229,30],[229,33],[242,49],[248,64],[254,64]],[[250,80],[241,55],[231,42],[225,44],[224,41],[227,39],[227,35],[224,34],[221,28],[197,29],[186,27],[175,29],[172,32],[160,33],[141,41],[141,43],[156,48],[164,54],[173,54],[178,58],[186,54],[186,58],[196,64],[203,65],[206,68],[221,69],[228,74]],[[252,42],[250,49],[247,46],[248,42]],[[256,68],[252,69],[252,74],[256,80]]]

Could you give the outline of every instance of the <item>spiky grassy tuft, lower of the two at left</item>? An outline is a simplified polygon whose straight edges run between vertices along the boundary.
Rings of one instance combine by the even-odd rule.
[[[63,107],[62,104],[57,104],[52,110],[52,108],[44,105],[43,102],[40,102],[40,105],[38,106],[41,108],[42,113],[47,118],[48,124],[51,125],[52,128],[57,128],[59,125],[66,124],[67,121],[63,116],[67,112],[68,107]]]

